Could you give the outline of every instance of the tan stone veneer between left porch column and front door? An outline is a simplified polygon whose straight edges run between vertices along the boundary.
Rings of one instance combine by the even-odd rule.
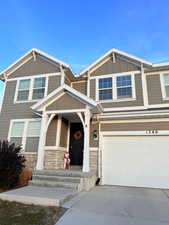
[[[45,150],[44,168],[48,170],[63,169],[65,150]]]

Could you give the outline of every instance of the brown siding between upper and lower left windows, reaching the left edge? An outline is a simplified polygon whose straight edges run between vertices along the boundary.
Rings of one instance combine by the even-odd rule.
[[[15,87],[16,81],[7,82],[0,115],[0,139],[7,139],[11,119],[38,118],[30,108],[35,102],[13,104]]]

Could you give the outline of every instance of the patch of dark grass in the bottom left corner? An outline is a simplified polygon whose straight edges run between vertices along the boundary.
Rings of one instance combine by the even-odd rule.
[[[66,212],[62,207],[24,205],[0,200],[0,225],[54,225]]]

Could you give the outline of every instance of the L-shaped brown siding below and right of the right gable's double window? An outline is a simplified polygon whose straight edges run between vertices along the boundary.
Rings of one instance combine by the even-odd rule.
[[[112,107],[142,106],[143,105],[143,92],[142,92],[141,74],[135,75],[135,88],[136,88],[136,100],[135,101],[102,103],[101,104],[102,107],[103,108],[112,108]]]

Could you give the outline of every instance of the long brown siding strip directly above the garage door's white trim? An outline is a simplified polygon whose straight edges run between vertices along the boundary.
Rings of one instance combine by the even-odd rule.
[[[169,130],[169,122],[105,123],[101,131]]]

